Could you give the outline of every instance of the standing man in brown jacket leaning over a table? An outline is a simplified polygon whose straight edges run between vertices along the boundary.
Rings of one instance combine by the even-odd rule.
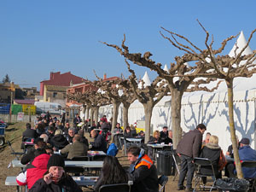
[[[178,178],[177,189],[185,189],[183,183],[187,175],[186,191],[192,191],[192,179],[194,175],[195,157],[199,157],[201,150],[202,135],[207,130],[206,125],[199,124],[196,129],[186,133],[182,140],[177,144],[177,154],[181,159],[181,171]]]

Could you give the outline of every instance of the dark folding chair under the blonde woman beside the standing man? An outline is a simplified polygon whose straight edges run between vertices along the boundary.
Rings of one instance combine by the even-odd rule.
[[[216,183],[216,176],[214,174],[214,168],[212,165],[212,160],[209,160],[207,158],[195,158],[194,159],[194,164],[195,166],[197,166],[197,169],[195,169],[195,188],[194,188],[194,192],[196,189],[196,185],[198,183],[200,183],[201,178],[202,177],[212,177],[213,178],[213,183],[212,186],[210,186],[210,192],[212,191],[212,189],[215,189],[215,183]],[[201,174],[201,166],[209,166],[212,167],[212,173],[211,174]],[[204,189],[207,188],[206,186],[204,186]]]

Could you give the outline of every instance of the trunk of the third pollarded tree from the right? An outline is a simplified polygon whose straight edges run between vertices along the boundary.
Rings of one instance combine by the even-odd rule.
[[[151,117],[154,108],[153,101],[144,103],[143,107],[145,113],[145,143],[148,143],[150,137]]]

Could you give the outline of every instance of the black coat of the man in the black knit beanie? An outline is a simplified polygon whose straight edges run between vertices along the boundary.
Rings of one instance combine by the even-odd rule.
[[[79,185],[75,183],[72,177],[65,175],[58,183],[45,183],[43,178],[38,179],[29,192],[82,192]]]

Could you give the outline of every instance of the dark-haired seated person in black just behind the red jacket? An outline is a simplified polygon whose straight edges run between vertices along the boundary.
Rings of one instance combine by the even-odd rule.
[[[22,165],[26,165],[29,162],[31,162],[34,158],[35,158],[35,151],[38,148],[44,148],[46,146],[46,143],[44,143],[44,139],[43,138],[37,138],[34,140],[34,146],[32,148],[29,148],[26,152],[26,154],[24,154],[20,160],[20,163]]]

